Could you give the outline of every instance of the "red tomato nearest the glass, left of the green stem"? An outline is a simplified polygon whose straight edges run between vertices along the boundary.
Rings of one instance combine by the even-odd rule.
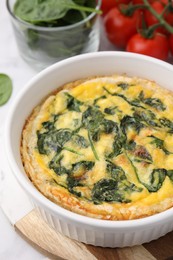
[[[140,12],[138,10],[132,16],[125,16],[115,7],[104,18],[108,39],[120,48],[125,48],[127,41],[137,32],[138,24],[140,24]]]

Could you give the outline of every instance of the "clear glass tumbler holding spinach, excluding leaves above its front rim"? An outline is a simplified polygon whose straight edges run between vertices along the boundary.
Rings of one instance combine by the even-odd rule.
[[[20,20],[13,13],[16,0],[7,0],[20,55],[30,65],[43,69],[57,61],[99,49],[99,19],[91,13],[84,20],[62,27],[42,27]],[[98,0],[96,9],[100,8]]]

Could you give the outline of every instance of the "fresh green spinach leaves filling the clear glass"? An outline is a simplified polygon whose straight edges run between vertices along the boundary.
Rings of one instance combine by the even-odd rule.
[[[44,54],[54,62],[85,52],[95,24],[95,16],[87,18],[100,13],[96,6],[96,0],[17,0],[13,13],[28,23],[26,29],[16,31],[20,48],[29,47],[38,60]]]

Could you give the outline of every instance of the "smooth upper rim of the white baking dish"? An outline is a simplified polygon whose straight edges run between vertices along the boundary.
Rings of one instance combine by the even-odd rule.
[[[11,147],[11,129],[12,129],[12,119],[15,114],[15,111],[18,107],[18,104],[22,100],[23,96],[25,96],[25,93],[33,86],[35,85],[42,77],[48,76],[50,72],[54,70],[58,70],[59,67],[65,66],[66,64],[73,63],[74,61],[80,61],[81,59],[90,59],[90,58],[102,58],[105,56],[114,56],[116,57],[126,57],[126,58],[135,58],[138,60],[146,60],[149,62],[152,62],[153,64],[157,64],[158,66],[164,66],[166,69],[171,70],[173,72],[173,66],[171,64],[168,64],[167,62],[148,57],[141,54],[134,54],[134,53],[125,53],[125,52],[98,52],[98,53],[90,53],[90,54],[82,54],[75,57],[68,58],[66,60],[60,61],[58,63],[55,63],[51,65],[50,67],[44,69],[40,73],[38,73],[36,76],[34,76],[18,93],[16,98],[13,100],[13,103],[10,107],[10,111],[8,114],[8,118],[6,121],[5,126],[5,152],[6,156],[10,165],[10,168],[16,177],[19,184],[22,186],[22,188],[32,197],[34,200],[38,202],[38,204],[44,206],[46,209],[51,211],[53,215],[57,215],[63,219],[66,219],[68,221],[73,221],[78,224],[82,225],[89,225],[90,227],[100,228],[100,229],[106,229],[109,231],[113,231],[114,229],[117,230],[123,230],[123,229],[130,229],[133,230],[134,228],[143,227],[145,228],[148,225],[157,224],[160,221],[168,220],[168,218],[172,218],[173,216],[173,207],[170,209],[167,209],[163,212],[154,214],[152,216],[140,218],[140,219],[132,219],[132,220],[102,220],[98,218],[92,218],[87,217],[84,215],[80,215],[75,212],[71,212],[55,203],[53,203],[51,200],[47,199],[41,192],[39,192],[34,185],[31,183],[29,179],[24,176],[24,174],[20,171],[17,160],[15,160],[15,156],[13,155],[12,147]]]

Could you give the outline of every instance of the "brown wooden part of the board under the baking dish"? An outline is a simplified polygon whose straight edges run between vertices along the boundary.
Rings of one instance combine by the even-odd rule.
[[[102,248],[86,245],[55,232],[36,210],[15,224],[16,231],[51,259],[163,260],[173,259],[173,232],[141,246]]]

